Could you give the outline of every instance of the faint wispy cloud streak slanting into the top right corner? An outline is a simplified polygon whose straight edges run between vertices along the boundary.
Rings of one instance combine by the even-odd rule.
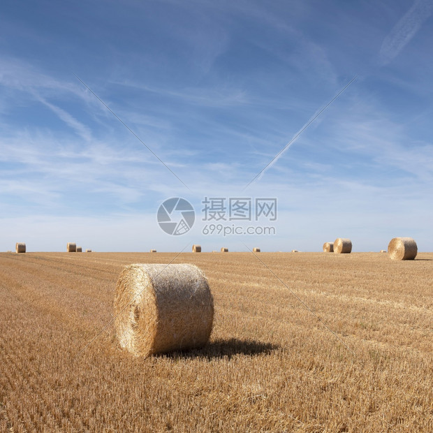
[[[388,64],[411,41],[423,23],[432,15],[433,1],[416,0],[383,40],[379,51],[381,66]]]

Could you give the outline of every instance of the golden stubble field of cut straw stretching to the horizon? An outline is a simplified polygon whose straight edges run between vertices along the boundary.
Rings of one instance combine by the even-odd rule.
[[[181,254],[210,344],[131,358],[119,272],[173,257],[0,254],[0,432],[433,431],[433,254]]]

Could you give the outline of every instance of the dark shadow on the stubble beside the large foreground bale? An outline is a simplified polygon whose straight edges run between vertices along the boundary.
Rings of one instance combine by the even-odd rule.
[[[185,351],[176,351],[171,353],[161,353],[162,358],[187,359],[187,358],[207,358],[208,360],[218,358],[231,359],[235,355],[269,355],[272,351],[277,350],[276,344],[256,342],[254,340],[241,340],[230,338],[227,340],[218,339],[206,344],[202,348],[193,348]]]

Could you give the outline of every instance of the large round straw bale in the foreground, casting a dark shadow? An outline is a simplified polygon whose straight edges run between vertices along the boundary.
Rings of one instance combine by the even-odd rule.
[[[195,265],[124,267],[114,307],[120,346],[135,356],[204,346],[212,331],[214,300]]]

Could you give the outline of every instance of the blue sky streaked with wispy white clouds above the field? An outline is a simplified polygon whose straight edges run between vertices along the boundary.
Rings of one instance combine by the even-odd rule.
[[[433,250],[433,1],[0,12],[0,251],[320,251],[336,237],[379,251],[396,236]],[[205,196],[276,197],[277,234],[203,235]],[[185,235],[156,221],[170,197],[196,209]]]

